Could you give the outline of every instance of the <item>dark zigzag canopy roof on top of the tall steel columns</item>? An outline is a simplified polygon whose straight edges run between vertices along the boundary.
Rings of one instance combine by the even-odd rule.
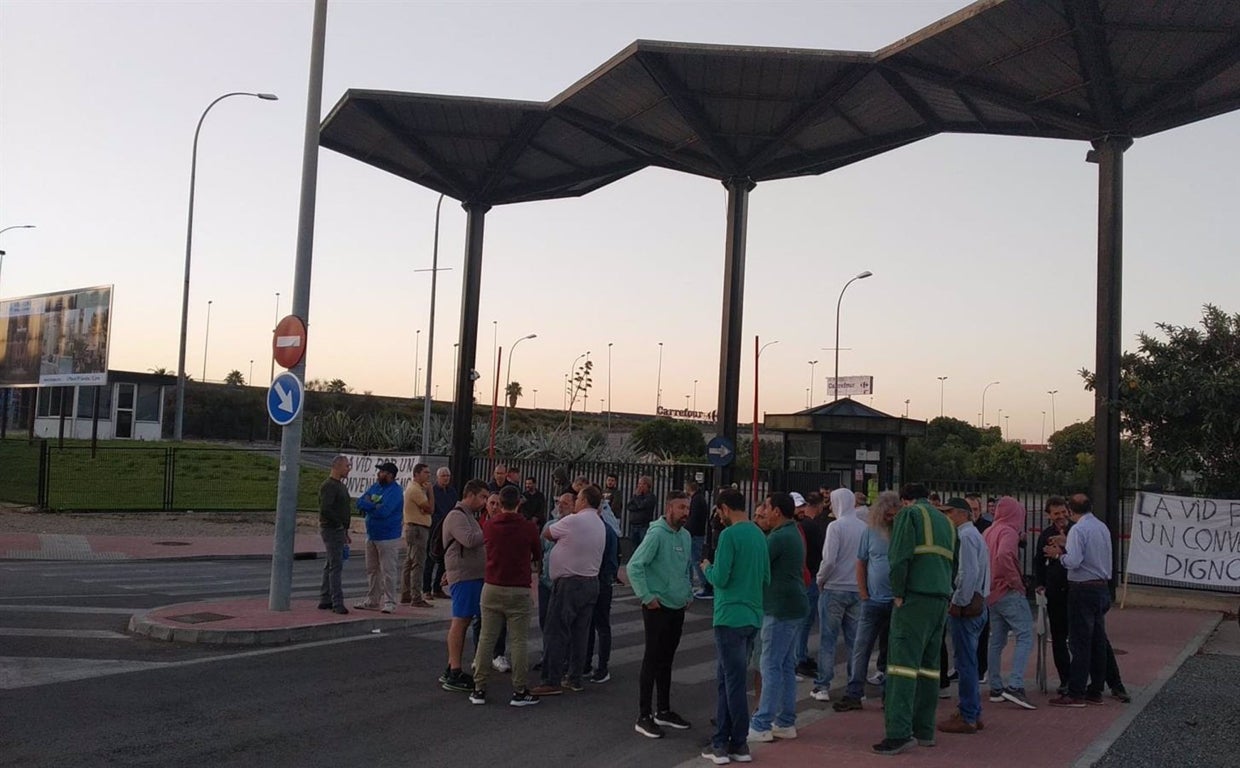
[[[878,52],[640,40],[547,103],[348,91],[321,143],[463,201],[649,165],[754,181],[932,136],[1146,136],[1240,108],[1240,2],[982,0]]]

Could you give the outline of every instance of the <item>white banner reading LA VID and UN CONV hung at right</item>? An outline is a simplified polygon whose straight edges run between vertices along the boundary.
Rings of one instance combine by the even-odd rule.
[[[1240,588],[1240,499],[1137,494],[1128,573]]]

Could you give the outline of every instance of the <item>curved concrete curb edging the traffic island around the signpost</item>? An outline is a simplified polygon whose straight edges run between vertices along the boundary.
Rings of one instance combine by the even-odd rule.
[[[201,608],[203,603],[182,603]],[[355,635],[365,635],[376,630],[389,632],[410,629],[429,624],[446,623],[439,617],[414,618],[357,618],[327,624],[299,624],[295,627],[273,627],[267,629],[212,629],[181,627],[155,617],[156,612],[176,608],[176,604],[151,608],[135,613],[129,618],[128,630],[131,634],[162,640],[166,643],[193,643],[200,645],[284,645],[289,643],[308,643],[314,640],[335,640]]]

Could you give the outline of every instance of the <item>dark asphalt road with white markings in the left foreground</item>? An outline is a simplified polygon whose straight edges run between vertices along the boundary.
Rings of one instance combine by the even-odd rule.
[[[357,594],[362,562],[346,566]],[[296,562],[294,589],[315,594],[320,568]],[[655,767],[694,758],[709,736],[708,604],[691,608],[672,691],[694,727],[634,733],[642,633],[627,589],[611,681],[526,708],[507,706],[506,676],[486,706],[440,690],[441,624],[262,650],[125,634],[133,610],[264,594],[268,577],[265,561],[0,562],[0,766]]]

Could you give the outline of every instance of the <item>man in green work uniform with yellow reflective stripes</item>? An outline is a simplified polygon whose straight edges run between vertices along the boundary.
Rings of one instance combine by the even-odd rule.
[[[931,506],[928,495],[920,483],[905,485],[900,499],[906,506],[892,525],[888,560],[895,608],[887,651],[887,735],[874,744],[879,754],[935,743],[939,645],[952,592],[956,529]]]

